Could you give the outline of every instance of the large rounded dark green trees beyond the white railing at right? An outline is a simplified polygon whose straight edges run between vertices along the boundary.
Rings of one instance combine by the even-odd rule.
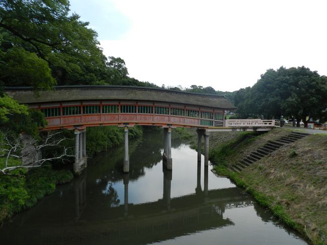
[[[327,108],[327,78],[309,68],[269,69],[252,88],[235,93],[237,112],[243,117],[266,118],[294,116],[299,122],[307,117],[322,118]],[[237,102],[237,103],[236,103]]]

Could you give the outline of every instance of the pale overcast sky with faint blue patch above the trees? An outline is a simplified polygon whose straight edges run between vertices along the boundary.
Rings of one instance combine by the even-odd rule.
[[[269,68],[327,75],[327,1],[70,0],[106,56],[158,86],[253,86]]]

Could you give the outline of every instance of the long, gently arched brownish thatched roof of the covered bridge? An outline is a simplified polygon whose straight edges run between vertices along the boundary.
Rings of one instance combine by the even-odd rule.
[[[85,100],[132,100],[188,104],[221,109],[235,107],[220,95],[188,93],[174,90],[132,86],[57,86],[53,91],[41,91],[36,97],[32,88],[6,88],[6,93],[22,104]]]

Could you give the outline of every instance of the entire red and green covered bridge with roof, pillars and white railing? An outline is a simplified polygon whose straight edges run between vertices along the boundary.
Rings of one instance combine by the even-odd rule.
[[[164,129],[163,158],[169,170],[172,170],[172,128],[198,128],[198,159],[201,161],[204,136],[207,166],[211,132],[268,131],[275,127],[274,120],[225,120],[225,110],[235,107],[220,95],[131,86],[58,86],[41,91],[38,97],[27,87],[6,88],[6,93],[19,103],[41,110],[48,122],[43,130],[74,130],[76,174],[87,166],[87,127],[124,127],[124,172],[129,172],[128,128],[134,125]]]

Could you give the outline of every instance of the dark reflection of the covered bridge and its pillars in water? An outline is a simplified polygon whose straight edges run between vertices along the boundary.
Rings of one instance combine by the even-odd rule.
[[[162,199],[151,203],[128,203],[129,175],[125,174],[124,204],[106,209],[106,212],[88,206],[86,174],[74,183],[74,217],[64,223],[49,224],[39,220],[37,225],[27,225],[20,232],[34,244],[57,244],[69,242],[89,244],[110,242],[110,244],[148,243],[167,240],[202,230],[234,225],[223,218],[225,207],[252,205],[249,196],[240,194],[238,188],[208,190],[208,167],[204,167],[204,187],[201,187],[201,166],[198,167],[197,187],[194,194],[171,198],[172,171],[163,168]],[[72,200],[73,201],[73,200]],[[85,212],[88,212],[85,215]],[[90,212],[95,220],[85,221]],[[99,221],[99,217],[100,221]],[[46,223],[44,223],[46,222]],[[58,221],[57,221],[58,222]],[[31,237],[30,234],[36,233]],[[14,234],[6,233],[8,237]],[[127,238],[128,237],[128,238]],[[78,242],[77,242],[78,241]],[[20,241],[13,241],[19,243]]]

